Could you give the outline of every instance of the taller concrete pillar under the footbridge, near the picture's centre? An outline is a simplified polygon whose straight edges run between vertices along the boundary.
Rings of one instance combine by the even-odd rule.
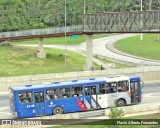
[[[87,35],[86,42],[86,65],[84,65],[83,69],[88,71],[91,70],[92,61],[93,61],[93,35]]]

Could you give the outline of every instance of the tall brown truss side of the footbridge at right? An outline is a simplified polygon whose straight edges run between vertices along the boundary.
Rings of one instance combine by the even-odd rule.
[[[160,11],[84,15],[84,32],[160,32]]]

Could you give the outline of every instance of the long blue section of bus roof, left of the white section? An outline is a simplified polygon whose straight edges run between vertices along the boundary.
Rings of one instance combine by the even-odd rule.
[[[106,81],[103,79],[88,79],[88,80],[73,80],[69,82],[54,82],[54,83],[47,83],[47,84],[37,84],[37,85],[25,85],[25,86],[18,86],[18,87],[10,87],[14,91],[29,91],[29,90],[44,90],[49,88],[60,88],[60,87],[73,87],[79,85],[93,85],[93,84],[101,84],[105,83]]]

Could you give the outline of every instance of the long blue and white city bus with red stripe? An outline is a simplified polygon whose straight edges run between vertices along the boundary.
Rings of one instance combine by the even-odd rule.
[[[56,115],[141,102],[139,76],[113,76],[9,87],[10,112],[18,118]]]

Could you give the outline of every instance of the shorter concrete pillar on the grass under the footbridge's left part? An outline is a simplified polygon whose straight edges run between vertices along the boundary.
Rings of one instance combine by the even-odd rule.
[[[37,48],[37,51],[36,51],[36,56],[38,58],[46,58],[46,53],[44,51],[43,45],[44,45],[44,39],[40,38],[39,39],[38,48]]]

